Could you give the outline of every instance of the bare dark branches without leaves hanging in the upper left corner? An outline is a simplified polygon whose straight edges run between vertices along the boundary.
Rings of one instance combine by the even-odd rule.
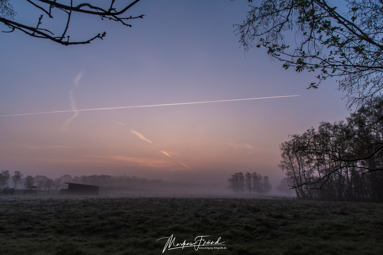
[[[43,14],[41,14],[38,18],[37,25],[34,27],[31,27],[31,26],[26,26],[25,24],[21,24],[19,22],[14,21],[16,12],[13,10],[13,7],[10,5],[9,1],[0,0],[0,22],[4,23],[5,25],[8,26],[8,28],[10,28],[9,31],[2,31],[2,32],[13,32],[15,31],[15,29],[17,29],[17,30],[25,32],[29,36],[49,39],[63,45],[88,44],[97,38],[103,39],[103,37],[105,37],[106,35],[106,32],[104,31],[93,37],[90,37],[89,39],[85,39],[82,41],[70,41],[69,40],[70,36],[67,34],[67,32],[68,32],[68,28],[70,24],[70,18],[73,13],[97,15],[97,16],[100,16],[101,19],[105,18],[105,19],[109,19],[113,21],[118,21],[119,23],[122,23],[124,26],[129,26],[129,27],[131,27],[131,25],[126,23],[129,19],[143,18],[144,16],[144,15],[124,16],[126,11],[128,11],[129,8],[131,8],[140,0],[135,0],[131,2],[129,5],[119,10],[117,10],[117,8],[114,7],[116,0],[110,0],[109,7],[105,9],[99,6],[91,5],[89,3],[80,3],[74,6],[73,0],[66,1],[66,2],[69,2],[68,4],[57,3],[56,0],[34,0],[34,1],[25,0],[25,1],[31,3],[31,5],[33,5],[35,8],[38,8],[39,10],[43,11]],[[59,33],[60,36],[57,36],[50,29],[41,28],[43,16],[47,15],[49,18],[53,18],[54,9],[60,10],[67,15],[67,19],[65,23],[62,24],[62,27],[61,27],[62,32]]]

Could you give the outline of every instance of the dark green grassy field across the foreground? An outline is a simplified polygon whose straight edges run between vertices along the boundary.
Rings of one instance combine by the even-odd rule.
[[[0,196],[0,254],[383,254],[383,205],[240,198]],[[160,240],[157,240],[160,239]],[[207,247],[207,246],[206,246]],[[209,246],[214,247],[214,246]],[[217,246],[218,247],[218,246]]]

